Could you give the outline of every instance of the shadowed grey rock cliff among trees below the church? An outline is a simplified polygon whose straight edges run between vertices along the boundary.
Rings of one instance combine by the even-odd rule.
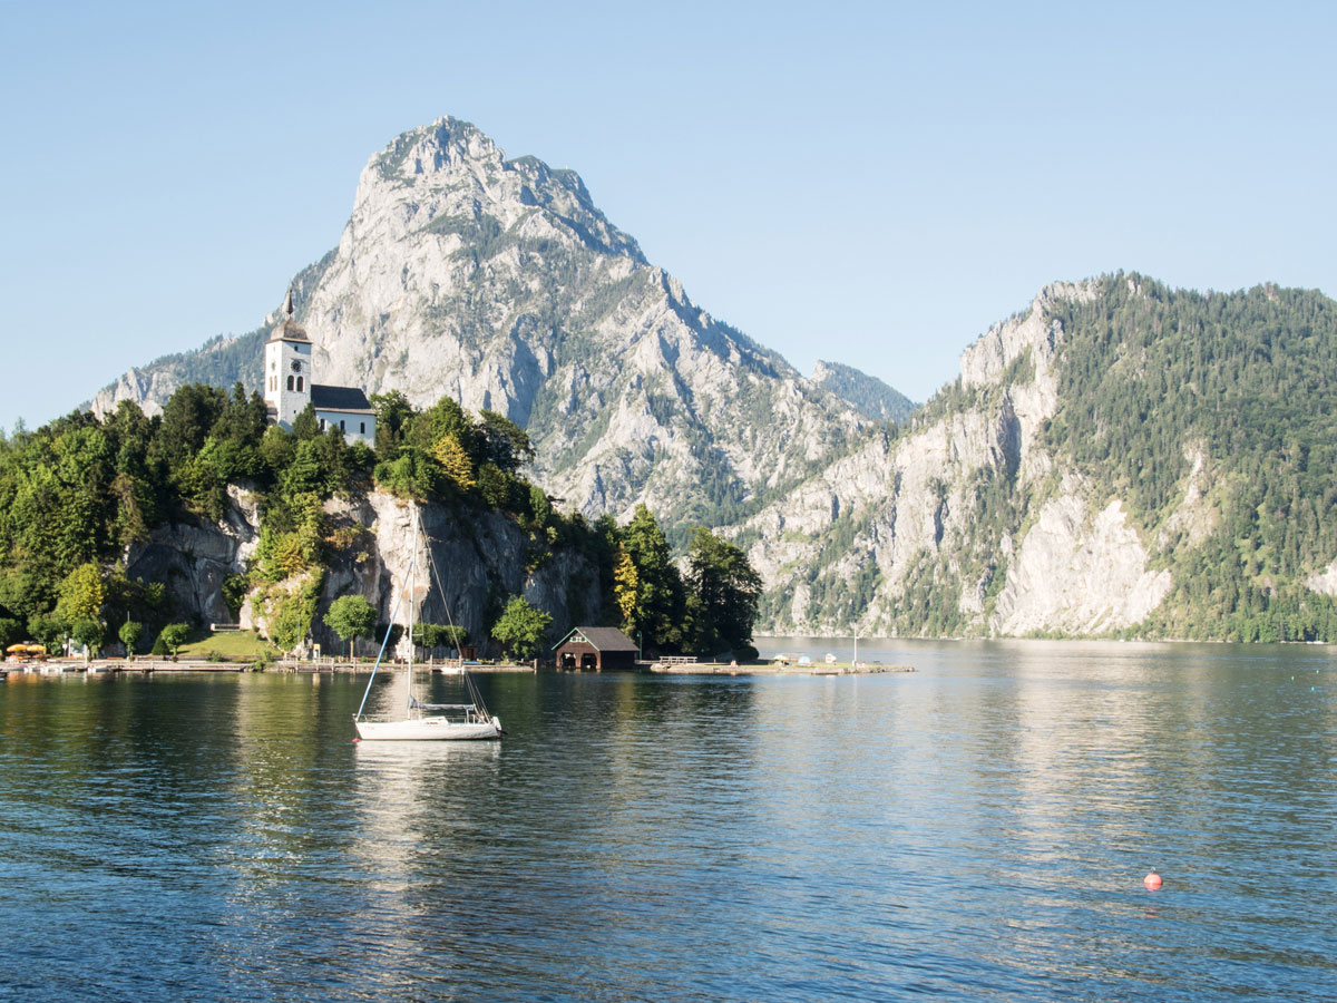
[[[223,583],[247,570],[259,542],[259,511],[254,495],[238,488],[230,493],[233,504],[223,522],[160,526],[126,555],[130,578],[167,584],[176,604],[174,615],[180,619],[234,622],[223,599]],[[349,543],[332,555],[310,625],[312,639],[325,651],[346,650],[346,642],[320,615],[341,595],[366,598],[382,623],[392,622],[392,614],[393,622],[408,623],[409,610],[397,606],[396,598],[409,580],[413,508],[382,491],[326,503],[334,535]],[[444,506],[417,508],[420,567],[409,591],[414,622],[456,623],[465,629],[471,645],[495,653],[487,623],[489,603],[497,596],[523,595],[552,615],[554,629],[600,617],[598,570],[584,556],[559,550],[529,568],[525,535],[504,515],[461,518]],[[274,594],[293,595],[310,580],[303,572],[278,583]],[[262,590],[254,590],[235,622],[270,637],[274,606],[261,598]],[[406,654],[406,639],[401,642],[398,654]]]

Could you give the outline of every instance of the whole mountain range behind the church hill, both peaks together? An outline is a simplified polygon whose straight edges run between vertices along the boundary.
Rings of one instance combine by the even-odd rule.
[[[713,318],[574,173],[441,119],[370,159],[294,298],[320,378],[499,411],[563,508],[644,502],[679,546],[706,524],[745,547],[763,629],[1337,639],[1337,305],[1317,292],[1055,284],[906,416]],[[258,386],[269,322],[92,407]]]

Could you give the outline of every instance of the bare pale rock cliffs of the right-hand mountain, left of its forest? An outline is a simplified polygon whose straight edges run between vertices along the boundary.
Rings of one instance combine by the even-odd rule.
[[[773,629],[1104,634],[1161,602],[1170,575],[1148,570],[1122,503],[1056,477],[1042,440],[1063,341],[1048,306],[1092,294],[1046,288],[963,353],[957,384],[897,437],[869,437],[739,528]],[[991,491],[1013,518],[983,520]]]

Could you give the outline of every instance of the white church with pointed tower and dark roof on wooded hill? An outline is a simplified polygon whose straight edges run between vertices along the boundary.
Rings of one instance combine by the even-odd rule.
[[[338,428],[350,443],[376,445],[376,409],[357,386],[328,386],[312,382],[312,340],[293,320],[293,290],[283,301],[285,320],[275,325],[265,342],[265,404],[270,421],[291,429],[293,419],[306,405],[316,409],[321,432]]]

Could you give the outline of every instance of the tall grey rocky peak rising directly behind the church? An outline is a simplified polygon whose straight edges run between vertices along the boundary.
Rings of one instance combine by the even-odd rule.
[[[781,496],[868,424],[693,304],[575,173],[507,159],[455,119],[370,159],[294,301],[322,382],[497,411],[527,428],[531,476],[564,504],[626,518],[644,502],[679,542]],[[131,370],[92,408],[152,408],[201,374],[258,388],[267,324]]]

